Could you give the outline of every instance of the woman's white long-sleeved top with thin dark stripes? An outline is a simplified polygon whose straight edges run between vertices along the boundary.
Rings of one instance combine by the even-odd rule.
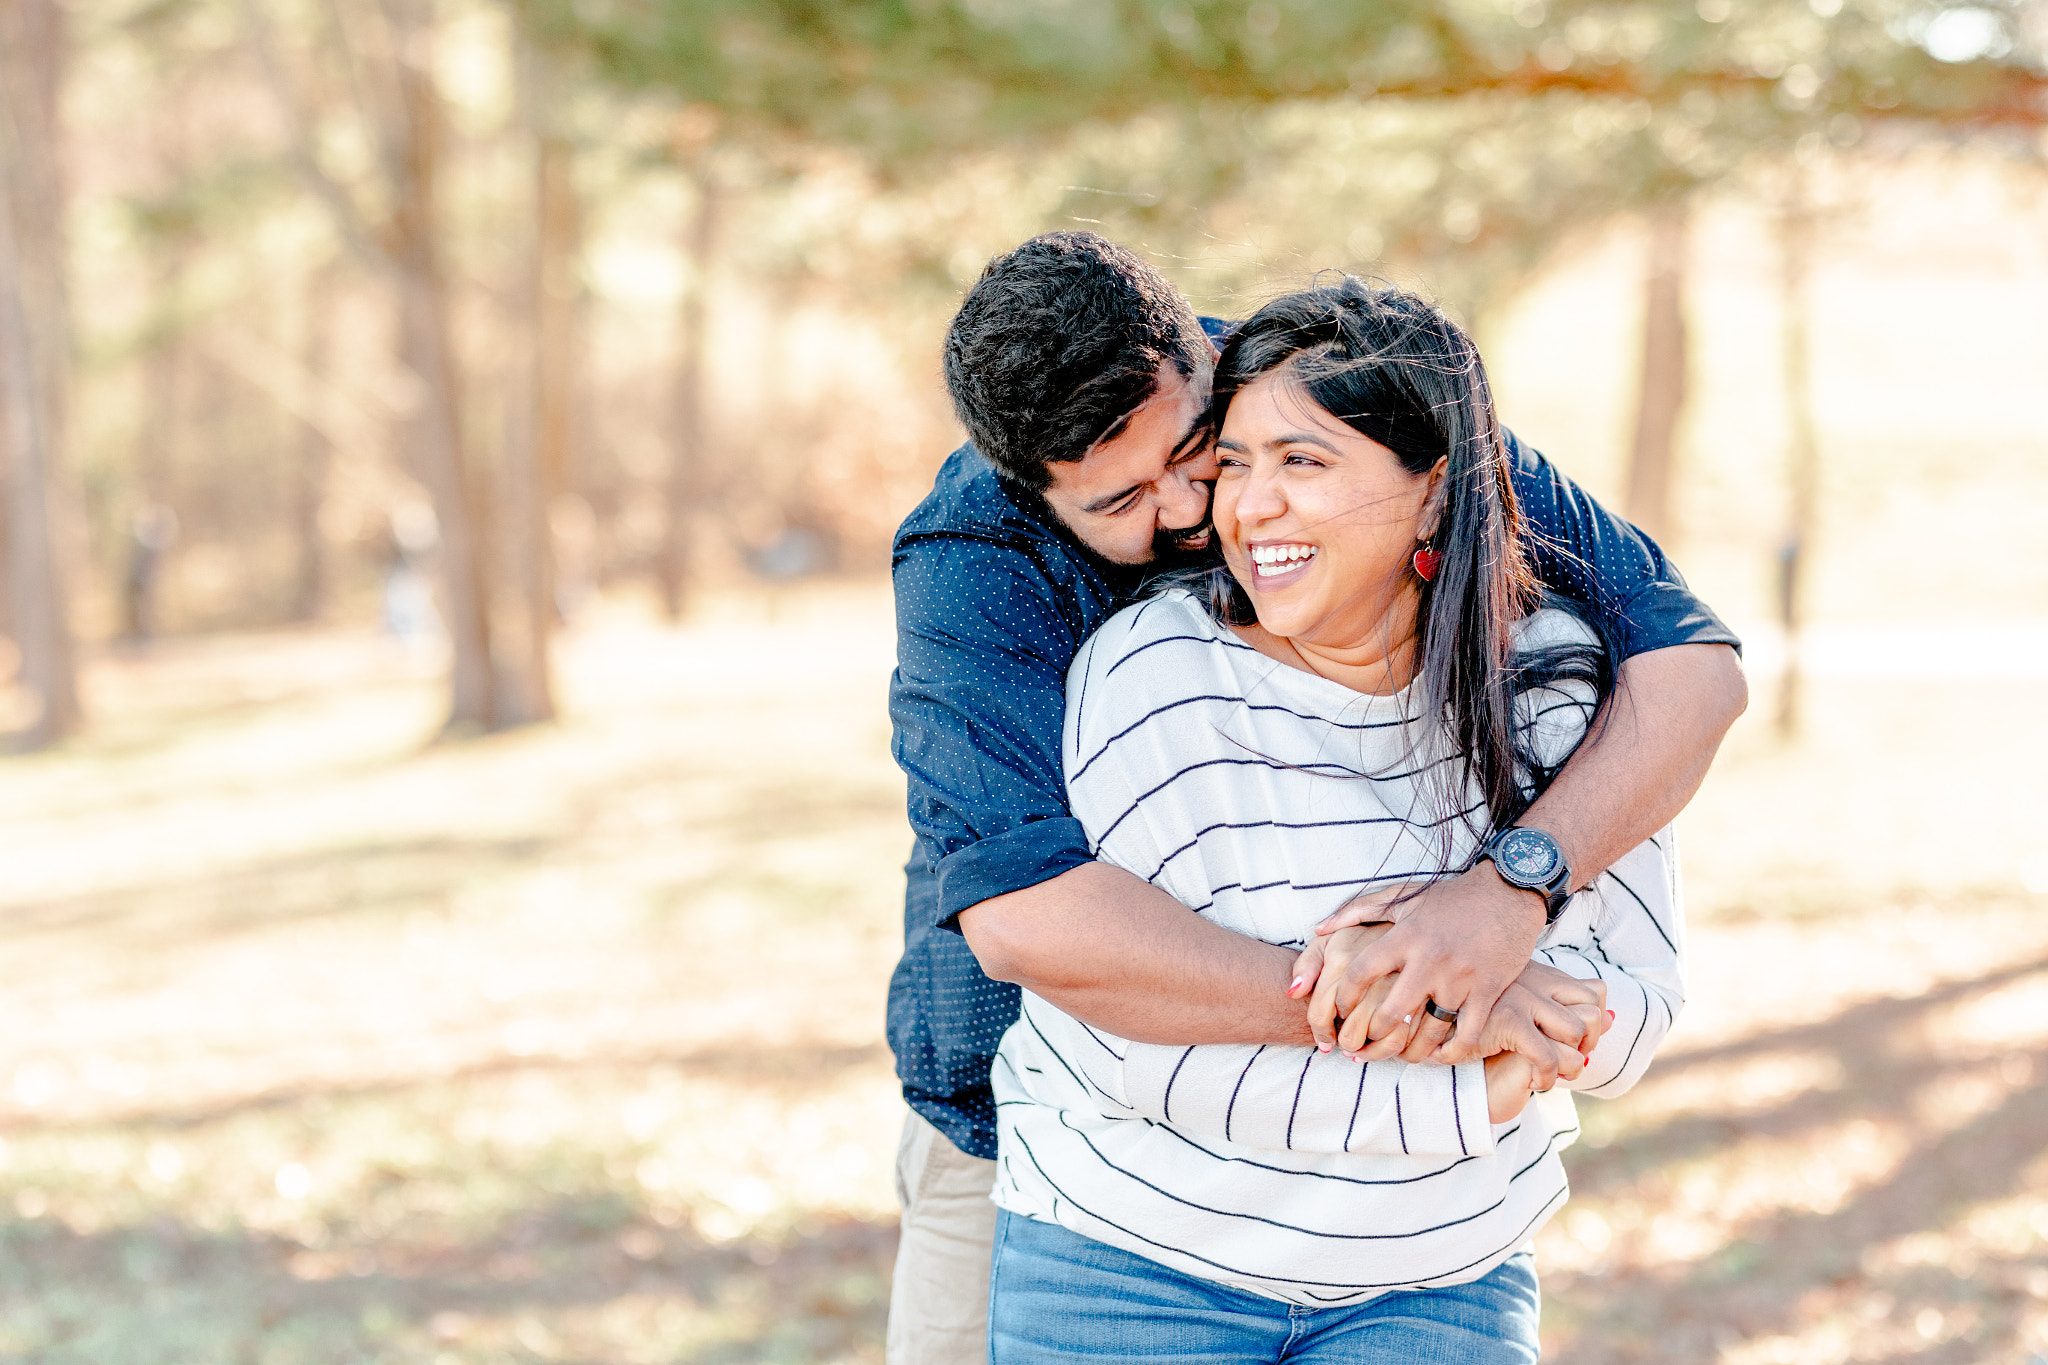
[[[1563,612],[1526,647],[1587,639]],[[1464,868],[1432,823],[1442,726],[1253,651],[1184,591],[1112,616],[1067,677],[1073,814],[1096,855],[1200,915],[1298,945],[1354,894]],[[1522,698],[1559,761],[1591,690]],[[1417,780],[1421,776],[1421,780]],[[1468,796],[1477,808],[1477,794]],[[1448,860],[1446,845],[1448,839]],[[1616,1021],[1571,1089],[1626,1091],[1683,1003],[1677,857],[1663,831],[1571,898],[1536,956],[1608,982]],[[1565,1203],[1561,1087],[1487,1121],[1479,1062],[1135,1044],[1024,993],[993,1070],[995,1201],[1202,1279],[1327,1306],[1479,1279]]]

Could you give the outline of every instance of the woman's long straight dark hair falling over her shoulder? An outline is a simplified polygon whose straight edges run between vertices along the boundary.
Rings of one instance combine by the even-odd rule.
[[[1393,450],[1411,475],[1444,463],[1432,536],[1442,561],[1432,581],[1419,581],[1411,714],[1448,724],[1454,757],[1462,757],[1462,769],[1452,761],[1448,774],[1462,772],[1477,784],[1495,829],[1511,825],[1561,765],[1538,763],[1518,737],[1516,696],[1575,679],[1606,700],[1616,651],[1595,624],[1599,645],[1516,653],[1513,626],[1542,593],[1522,551],[1522,510],[1479,348],[1444,313],[1401,289],[1343,276],[1286,295],[1253,313],[1223,348],[1210,436],[1223,430],[1239,389],[1280,368],[1327,413]],[[1198,577],[1217,620],[1257,618],[1221,563]],[[1554,606],[1571,610],[1567,602]],[[1456,780],[1442,786],[1446,835],[1468,790]]]

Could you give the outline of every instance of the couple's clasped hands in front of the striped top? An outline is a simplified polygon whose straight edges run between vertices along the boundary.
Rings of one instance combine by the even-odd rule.
[[[1520,935],[1497,907],[1483,915],[1489,923],[1466,923],[1473,896],[1444,894],[1462,880],[1407,900],[1403,888],[1352,900],[1317,925],[1288,995],[1307,999],[1323,1052],[1341,1048],[1360,1062],[1485,1058],[1487,1109],[1501,1124],[1522,1113],[1530,1093],[1581,1074],[1612,1021],[1608,986],[1530,962],[1540,919],[1528,943],[1511,941]],[[1430,999],[1454,1009],[1456,1025],[1430,1015]]]

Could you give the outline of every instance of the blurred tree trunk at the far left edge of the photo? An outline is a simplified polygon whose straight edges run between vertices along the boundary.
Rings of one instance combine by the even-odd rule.
[[[8,585],[20,677],[43,747],[78,729],[53,493],[63,450],[70,327],[57,96],[66,23],[55,0],[0,0],[0,420],[6,434]]]

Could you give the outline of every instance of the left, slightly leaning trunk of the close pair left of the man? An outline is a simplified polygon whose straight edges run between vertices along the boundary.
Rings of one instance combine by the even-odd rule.
[[[489,557],[465,446],[461,370],[440,260],[440,96],[434,90],[432,23],[420,8],[418,0],[387,4],[401,104],[391,256],[406,364],[418,381],[414,450],[440,532],[442,618],[453,653],[449,729],[489,731],[500,724],[485,571]]]

